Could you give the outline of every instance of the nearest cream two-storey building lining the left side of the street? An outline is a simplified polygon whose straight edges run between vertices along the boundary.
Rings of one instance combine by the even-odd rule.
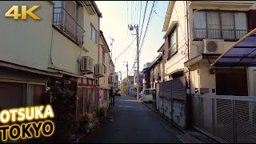
[[[41,20],[5,18],[11,6],[40,6]],[[77,114],[98,105],[101,12],[94,1],[2,2],[1,107],[49,103],[47,86],[77,92]],[[108,60],[106,60],[108,61]]]

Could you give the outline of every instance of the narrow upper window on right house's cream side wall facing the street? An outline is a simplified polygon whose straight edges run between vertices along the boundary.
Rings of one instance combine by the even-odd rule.
[[[172,34],[169,36],[169,49],[168,49],[168,58],[171,58],[176,52],[177,49],[177,28],[174,29]]]

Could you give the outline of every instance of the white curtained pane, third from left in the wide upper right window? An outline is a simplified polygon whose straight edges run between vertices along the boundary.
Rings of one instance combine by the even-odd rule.
[[[235,38],[234,13],[222,12],[222,38]]]

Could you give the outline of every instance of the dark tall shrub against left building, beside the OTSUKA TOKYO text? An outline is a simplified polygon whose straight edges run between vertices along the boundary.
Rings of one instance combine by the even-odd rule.
[[[71,131],[75,131],[72,128],[76,125],[75,92],[53,86],[50,88],[50,94],[55,114],[55,132],[52,141],[69,142],[72,136]]]

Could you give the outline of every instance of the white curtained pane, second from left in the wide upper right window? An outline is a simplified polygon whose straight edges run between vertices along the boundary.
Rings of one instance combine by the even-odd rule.
[[[207,38],[221,38],[218,12],[207,12]]]

